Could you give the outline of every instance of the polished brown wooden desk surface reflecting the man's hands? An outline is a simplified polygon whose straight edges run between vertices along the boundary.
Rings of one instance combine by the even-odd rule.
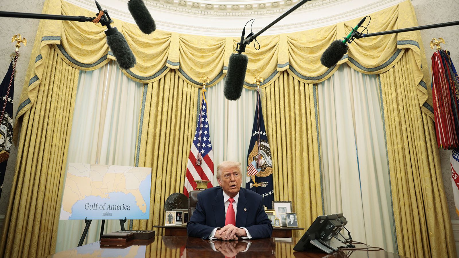
[[[386,251],[338,251],[332,254],[318,249],[304,252],[293,251],[298,238],[265,238],[243,241],[208,241],[186,236],[155,236],[149,240],[132,240],[126,247],[104,247],[94,242],[67,251],[58,252],[50,258],[91,257],[289,257],[289,258],[399,258]],[[360,246],[362,247],[362,246]]]

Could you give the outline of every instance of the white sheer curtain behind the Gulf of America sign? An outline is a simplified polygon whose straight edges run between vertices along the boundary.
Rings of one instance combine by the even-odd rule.
[[[134,165],[135,138],[143,84],[126,77],[116,62],[81,71],[73,113],[67,163]],[[61,220],[56,252],[78,245],[84,220]],[[99,240],[101,220],[93,220],[84,244]],[[120,230],[106,220],[105,232]]]

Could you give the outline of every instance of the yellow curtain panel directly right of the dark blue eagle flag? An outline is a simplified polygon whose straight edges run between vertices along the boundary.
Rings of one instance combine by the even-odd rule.
[[[273,157],[274,200],[292,201],[298,225],[322,211],[317,86],[282,72],[263,90],[262,107]],[[305,230],[298,232],[302,236]]]

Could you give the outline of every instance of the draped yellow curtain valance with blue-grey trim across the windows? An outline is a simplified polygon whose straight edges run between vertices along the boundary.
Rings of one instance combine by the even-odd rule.
[[[95,15],[92,11],[64,0],[47,0],[43,13],[88,17]],[[412,62],[419,84],[420,106],[431,116],[432,109],[428,104],[431,101],[428,101],[425,84],[425,81],[429,81],[429,73],[422,69],[427,67],[427,63],[425,54],[421,51],[423,48],[419,31],[358,39],[349,45],[348,54],[336,67],[327,68],[320,64],[320,56],[330,43],[347,35],[359,19],[297,33],[258,37],[261,49],[255,50],[253,45],[246,49],[249,63],[245,87],[255,89],[254,77],[258,75],[264,79],[262,87],[266,87],[285,70],[304,83],[315,84],[328,79],[342,63],[347,63],[361,73],[383,73],[393,67],[403,53],[410,49],[415,56]],[[161,30],[146,35],[135,24],[116,19],[113,25],[124,35],[137,59],[136,66],[123,70],[123,73],[141,83],[155,82],[169,69],[178,69],[179,76],[193,86],[202,86],[200,78],[203,75],[210,79],[208,86],[213,86],[226,73],[229,56],[235,52],[236,44],[240,40],[234,37],[207,37]],[[413,6],[407,0],[371,14],[369,30],[379,32],[416,25]],[[100,24],[91,22],[42,20],[32,53],[36,56],[35,62],[30,63],[34,69],[28,77],[28,85],[25,85],[26,94],[21,97],[17,116],[21,116],[36,98],[36,86],[42,76],[43,61],[46,60],[49,47],[55,48],[67,64],[79,70],[94,70],[109,60],[115,60],[106,44],[105,29]]]

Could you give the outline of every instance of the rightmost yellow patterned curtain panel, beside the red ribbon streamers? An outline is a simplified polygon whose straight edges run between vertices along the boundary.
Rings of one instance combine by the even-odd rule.
[[[398,252],[453,258],[434,122],[419,108],[415,66],[414,53],[408,51],[380,74]]]

